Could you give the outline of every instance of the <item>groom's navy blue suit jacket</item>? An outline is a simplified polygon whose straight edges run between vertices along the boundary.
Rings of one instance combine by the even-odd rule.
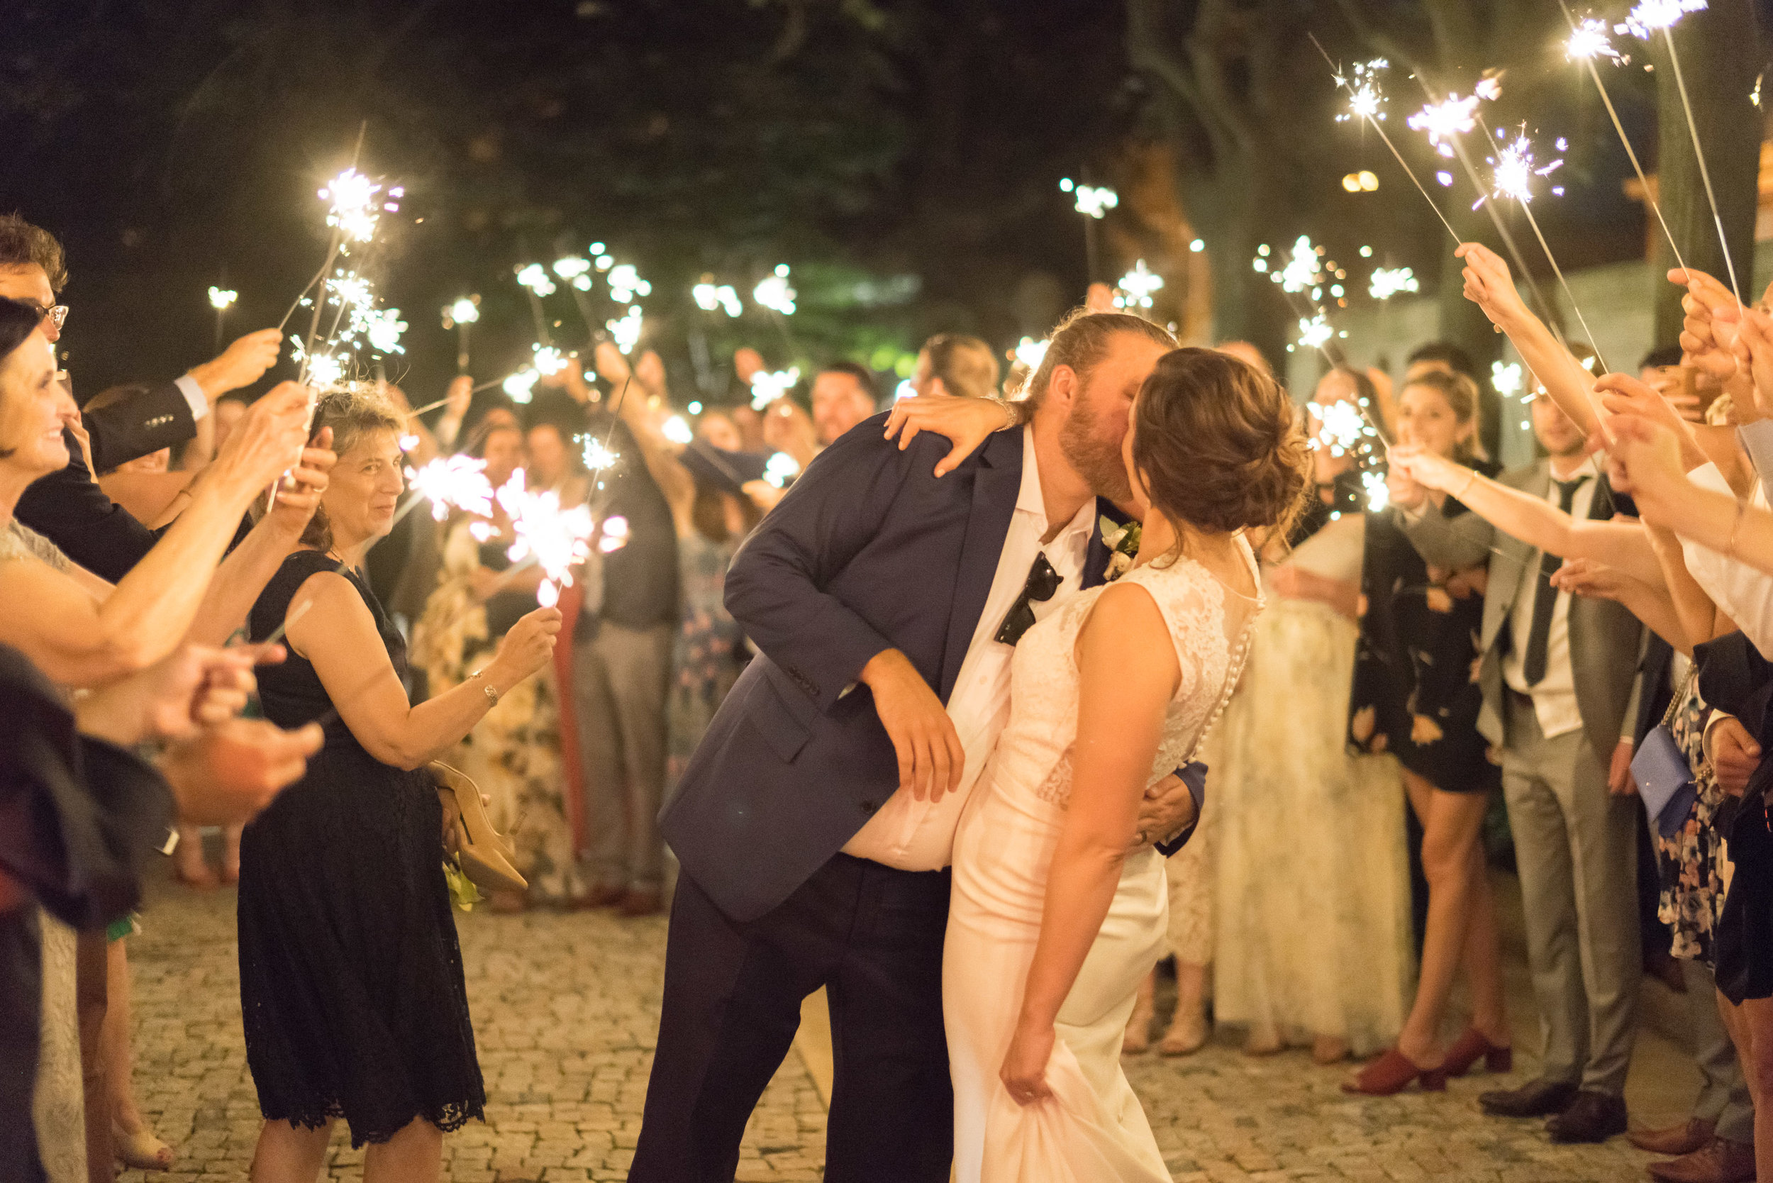
[[[899,761],[862,667],[899,649],[947,702],[1016,513],[1019,431],[938,481],[947,440],[926,433],[901,452],[885,422],[821,452],[727,573],[727,610],[759,656],[660,821],[734,921],[785,901],[894,795]],[[1085,587],[1106,566],[1097,530]]]

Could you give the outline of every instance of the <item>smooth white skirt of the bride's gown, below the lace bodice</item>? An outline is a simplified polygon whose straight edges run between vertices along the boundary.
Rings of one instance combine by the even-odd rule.
[[[1058,1013],[1046,1082],[1021,1107],[998,1078],[1041,935],[1046,871],[1064,811],[1019,787],[980,786],[954,841],[954,899],[941,961],[954,1073],[959,1183],[1167,1183],[1170,1172],[1121,1071],[1138,984],[1165,947],[1163,858],[1128,860],[1108,919]]]

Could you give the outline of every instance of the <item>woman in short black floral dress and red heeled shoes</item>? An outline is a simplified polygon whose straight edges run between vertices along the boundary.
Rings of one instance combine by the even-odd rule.
[[[1399,442],[1495,475],[1495,465],[1473,456],[1477,397],[1477,383],[1463,374],[1420,374],[1397,396]],[[1390,752],[1404,766],[1429,881],[1417,997],[1397,1046],[1342,1085],[1376,1096],[1411,1082],[1441,1089],[1447,1077],[1463,1077],[1479,1059],[1491,1071],[1507,1071],[1512,1062],[1482,834],[1502,768],[1477,731],[1488,553],[1461,571],[1427,566],[1397,521],[1425,498],[1449,518],[1468,513],[1457,498],[1429,493],[1394,468],[1392,505],[1367,514],[1365,612],[1349,704],[1353,745]],[[1472,1022],[1443,1048],[1440,1027],[1459,967],[1472,988]]]

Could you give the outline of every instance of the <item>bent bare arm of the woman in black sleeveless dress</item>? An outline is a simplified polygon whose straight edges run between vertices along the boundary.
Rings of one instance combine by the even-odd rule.
[[[376,619],[342,575],[309,576],[291,598],[285,623],[289,647],[314,663],[326,697],[363,750],[383,764],[424,768],[493,708],[488,688],[504,697],[553,658],[560,612],[537,608],[521,617],[477,678],[418,706],[406,699]]]

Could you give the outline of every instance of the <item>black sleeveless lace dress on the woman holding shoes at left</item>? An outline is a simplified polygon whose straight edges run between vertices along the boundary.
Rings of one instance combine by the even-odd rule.
[[[404,678],[406,644],[376,596],[319,552],[284,560],[254,605],[250,635],[275,631],[319,571],[351,580]],[[259,697],[282,727],[326,720],[307,775],[241,835],[239,1000],[259,1109],[309,1128],[344,1117],[353,1146],[385,1142],[413,1117],[456,1130],[482,1116],[486,1087],[436,789],[422,770],[365,752],[294,653],[259,670]]]

